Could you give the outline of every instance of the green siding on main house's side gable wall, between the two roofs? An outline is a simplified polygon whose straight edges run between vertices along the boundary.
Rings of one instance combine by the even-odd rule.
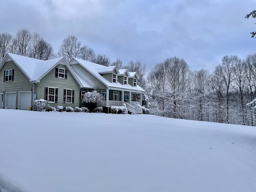
[[[106,85],[98,80],[90,72],[88,72],[85,68],[83,68],[80,64],[72,64],[70,66],[72,67],[74,72],[78,74],[78,76],[80,76],[90,86],[92,86],[94,90],[106,90]]]

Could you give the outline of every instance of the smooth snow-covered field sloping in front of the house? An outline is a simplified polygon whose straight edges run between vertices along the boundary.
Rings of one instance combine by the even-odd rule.
[[[256,127],[4,109],[0,123],[1,192],[256,192]]]

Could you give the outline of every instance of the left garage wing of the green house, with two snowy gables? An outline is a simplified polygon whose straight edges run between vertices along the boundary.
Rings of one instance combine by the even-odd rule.
[[[80,89],[92,87],[64,58],[38,60],[6,54],[0,63],[0,108],[27,110],[36,99],[50,106],[79,106]]]

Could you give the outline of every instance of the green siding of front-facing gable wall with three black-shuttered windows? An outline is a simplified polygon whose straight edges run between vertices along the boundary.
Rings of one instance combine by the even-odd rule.
[[[58,64],[57,68],[68,68],[65,65]],[[57,78],[55,77],[55,68],[52,69],[46,76],[44,76],[40,82],[37,84],[37,98],[44,99],[44,88],[45,87],[55,87],[58,88],[58,102],[57,103],[48,103],[50,106],[64,106],[64,107],[78,107],[79,106],[79,96],[80,96],[80,87],[76,82],[75,78],[72,76],[70,71],[68,70],[68,78]],[[72,89],[74,90],[74,103],[64,103],[63,102],[63,94],[64,89]]]

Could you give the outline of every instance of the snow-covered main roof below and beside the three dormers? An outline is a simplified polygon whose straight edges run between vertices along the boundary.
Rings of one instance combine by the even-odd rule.
[[[133,90],[138,92],[144,92],[145,90],[142,89],[140,86],[133,87],[130,84],[122,85],[118,81],[116,83],[111,83],[108,80],[106,80],[103,76],[100,75],[98,72],[98,69],[100,68],[108,68],[106,66],[102,66],[96,63],[92,63],[89,61],[85,61],[78,58],[72,58],[69,62],[70,65],[72,64],[80,64],[83,68],[85,68],[88,72],[90,72],[93,76],[95,76],[100,82],[105,84],[109,88],[118,88],[118,89],[126,89],[126,90]]]

